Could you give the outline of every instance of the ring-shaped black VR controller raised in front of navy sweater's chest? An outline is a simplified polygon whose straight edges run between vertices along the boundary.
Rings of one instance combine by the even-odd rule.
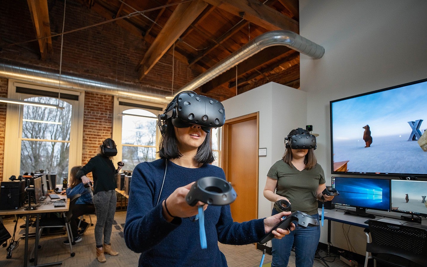
[[[209,205],[228,205],[236,200],[237,193],[231,184],[224,179],[214,176],[200,178],[191,186],[185,200],[190,206],[198,201]]]

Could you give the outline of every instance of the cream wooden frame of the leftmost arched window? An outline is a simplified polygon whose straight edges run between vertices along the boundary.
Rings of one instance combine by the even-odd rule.
[[[82,164],[83,138],[83,109],[85,103],[84,91],[72,91],[68,89],[51,88],[43,85],[34,85],[9,79],[7,96],[12,99],[24,100],[29,97],[41,97],[35,94],[17,93],[16,88],[23,87],[41,91],[48,91],[60,94],[71,94],[79,97],[79,100],[66,101],[73,106],[71,112],[71,130],[70,130],[70,150],[68,158],[68,173],[71,167]],[[3,180],[12,175],[20,175],[20,156],[22,141],[22,119],[23,106],[17,104],[7,104],[6,108],[6,130],[3,159]],[[63,177],[62,177],[63,178]],[[68,177],[67,177],[68,178]]]

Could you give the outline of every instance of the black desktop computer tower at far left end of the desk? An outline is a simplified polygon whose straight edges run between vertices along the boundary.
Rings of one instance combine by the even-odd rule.
[[[26,198],[25,180],[1,182],[0,210],[18,209],[23,206]]]

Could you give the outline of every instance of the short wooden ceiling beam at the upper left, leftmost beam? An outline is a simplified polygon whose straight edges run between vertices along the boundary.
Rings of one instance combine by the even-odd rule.
[[[40,56],[42,60],[45,60],[47,58],[47,53],[53,53],[52,38],[45,38],[51,35],[47,0],[27,0],[27,3],[32,23],[34,25],[35,34],[37,38],[40,38],[38,40]]]

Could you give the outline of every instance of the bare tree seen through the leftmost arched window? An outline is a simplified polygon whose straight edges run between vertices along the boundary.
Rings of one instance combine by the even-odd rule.
[[[58,104],[64,109],[23,106],[20,173],[56,173],[56,184],[68,177],[72,105],[53,97],[28,101]]]

